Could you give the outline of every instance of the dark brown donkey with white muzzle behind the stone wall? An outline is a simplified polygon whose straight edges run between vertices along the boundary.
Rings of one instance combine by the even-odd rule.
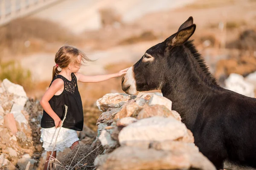
[[[189,17],[177,33],[149,48],[122,78],[127,94],[160,89],[217,169],[224,161],[256,167],[256,99],[221,88],[193,40]]]

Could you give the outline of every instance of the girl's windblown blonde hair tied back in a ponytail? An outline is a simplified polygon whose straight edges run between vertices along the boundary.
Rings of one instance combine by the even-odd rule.
[[[52,79],[56,76],[56,74],[59,74],[61,72],[61,71],[58,71],[58,67],[66,68],[72,62],[75,64],[79,64],[77,60],[77,57],[79,55],[81,55],[83,63],[85,63],[86,61],[88,62],[93,61],[89,59],[84,54],[84,52],[82,52],[81,50],[73,46],[69,46],[69,45],[62,46],[55,55],[56,65],[53,66],[53,69],[52,69]]]

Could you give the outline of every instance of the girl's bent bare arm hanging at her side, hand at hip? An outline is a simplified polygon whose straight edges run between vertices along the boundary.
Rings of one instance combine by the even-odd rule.
[[[44,96],[40,100],[41,106],[44,108],[44,111],[46,111],[49,116],[52,117],[55,123],[55,127],[59,127],[61,125],[61,119],[59,116],[52,110],[49,100],[52,98],[54,94],[56,94],[58,91],[64,90],[64,82],[62,79],[55,79],[52,82],[52,85],[48,88],[48,90],[45,92]]]

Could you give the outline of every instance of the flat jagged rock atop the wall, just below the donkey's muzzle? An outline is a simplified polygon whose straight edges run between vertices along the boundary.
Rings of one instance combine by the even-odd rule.
[[[128,94],[105,94],[102,98],[96,101],[96,105],[99,110],[105,112],[108,108],[119,108],[125,104],[125,102],[134,99],[136,96]]]

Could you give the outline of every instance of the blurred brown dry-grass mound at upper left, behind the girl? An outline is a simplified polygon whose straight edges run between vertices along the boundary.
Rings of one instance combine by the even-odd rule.
[[[47,51],[47,43],[79,41],[57,23],[41,19],[21,18],[0,27],[0,54],[26,54]]]

